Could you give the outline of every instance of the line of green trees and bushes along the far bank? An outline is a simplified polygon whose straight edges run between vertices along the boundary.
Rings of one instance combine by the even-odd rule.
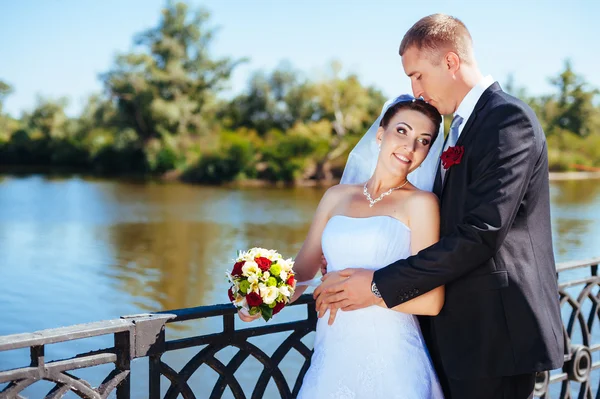
[[[244,92],[220,94],[244,58],[215,58],[210,15],[168,3],[156,27],[134,37],[100,79],[104,92],[78,117],[66,99],[38,99],[13,118],[13,88],[0,80],[0,165],[102,175],[170,176],[194,183],[331,181],[377,117],[383,94],[333,62],[309,79],[289,64],[257,71]],[[555,92],[529,96],[509,77],[505,90],[537,113],[551,170],[600,167],[599,91],[566,61]],[[450,120],[451,118],[447,118]]]

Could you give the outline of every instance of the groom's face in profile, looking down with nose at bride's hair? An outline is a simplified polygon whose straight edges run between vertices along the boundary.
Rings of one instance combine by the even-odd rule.
[[[442,62],[441,55],[439,60],[435,57],[437,56],[410,47],[402,55],[402,66],[410,78],[414,96],[423,97],[440,114],[449,115],[456,110],[452,98],[452,73]]]

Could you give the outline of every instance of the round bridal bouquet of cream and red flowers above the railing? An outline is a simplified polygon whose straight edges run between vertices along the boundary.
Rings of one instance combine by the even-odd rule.
[[[251,315],[260,313],[269,321],[294,295],[293,266],[291,259],[283,259],[274,250],[252,248],[240,252],[233,270],[227,272],[229,300],[238,309],[246,309]]]

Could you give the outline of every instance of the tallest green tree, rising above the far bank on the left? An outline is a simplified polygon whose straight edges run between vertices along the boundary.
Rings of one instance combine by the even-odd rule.
[[[157,27],[135,39],[142,51],[120,55],[102,75],[124,127],[145,143],[165,134],[197,134],[212,122],[215,95],[240,61],[213,59],[208,12],[169,2]]]

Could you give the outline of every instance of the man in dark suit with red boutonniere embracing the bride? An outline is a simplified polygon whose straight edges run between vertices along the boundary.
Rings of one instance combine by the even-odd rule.
[[[375,272],[329,273],[315,290],[319,316],[445,285],[444,308],[421,324],[446,397],[532,398],[535,373],[563,364],[544,132],[480,73],[458,19],[421,19],[400,56],[415,97],[454,114],[434,185],[441,239]]]

